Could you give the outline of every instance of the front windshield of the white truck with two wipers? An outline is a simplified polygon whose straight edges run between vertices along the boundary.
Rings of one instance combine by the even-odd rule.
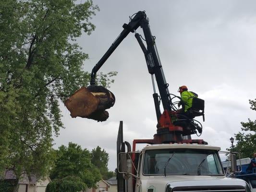
[[[174,153],[174,155],[170,156]],[[168,162],[168,160],[170,161]],[[167,163],[168,162],[168,163]],[[167,165],[166,165],[167,164]],[[146,150],[144,175],[196,174],[223,175],[218,152],[204,149]]]

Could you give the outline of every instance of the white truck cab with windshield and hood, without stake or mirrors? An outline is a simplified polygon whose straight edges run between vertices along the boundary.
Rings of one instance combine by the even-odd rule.
[[[135,192],[246,192],[244,180],[226,178],[219,147],[153,144],[142,149]]]

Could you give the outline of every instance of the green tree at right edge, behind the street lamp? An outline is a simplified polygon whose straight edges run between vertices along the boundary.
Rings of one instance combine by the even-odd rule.
[[[252,110],[256,110],[256,99],[249,100]],[[256,120],[248,119],[248,122],[241,122],[242,132],[235,134],[237,144],[234,151],[241,153],[241,158],[253,157],[256,153]],[[231,149],[229,149],[231,150]]]

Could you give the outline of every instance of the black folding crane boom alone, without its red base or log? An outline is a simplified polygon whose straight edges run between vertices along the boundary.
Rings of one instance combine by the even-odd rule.
[[[113,53],[113,51],[120,45],[122,40],[130,33],[135,33],[135,37],[142,48],[142,51],[145,55],[146,64],[148,68],[148,72],[152,75],[155,74],[156,82],[158,85],[159,94],[162,101],[162,106],[164,109],[171,111],[171,97],[168,90],[169,84],[166,83],[165,76],[162,70],[162,66],[158,57],[156,44],[155,44],[155,37],[152,36],[148,18],[146,17],[145,12],[137,12],[134,17],[130,20],[128,24],[123,24],[122,26],[124,29],[121,32],[121,34],[116,38],[116,40],[112,43],[110,48],[107,50],[107,52],[103,55],[103,57],[98,61],[98,63],[94,66],[92,72],[91,72],[91,85],[95,85],[95,78],[96,73],[100,69],[100,67],[105,63],[105,61],[110,57],[110,55]],[[136,29],[138,27],[141,27],[143,29],[143,33],[146,40],[146,47],[138,33],[136,33]],[[154,81],[153,81],[154,85]],[[155,88],[154,88],[155,92]],[[161,116],[160,108],[159,108],[159,99],[158,94],[155,92],[153,94],[154,102],[155,102],[155,108],[157,113],[157,119],[159,120]]]

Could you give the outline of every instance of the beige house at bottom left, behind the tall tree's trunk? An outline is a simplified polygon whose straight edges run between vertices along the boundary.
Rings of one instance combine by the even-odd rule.
[[[10,181],[12,183],[16,176],[11,170],[7,170],[5,172],[4,176],[5,180]],[[35,175],[31,175],[30,178],[28,178],[26,175],[19,180],[19,190],[18,192],[45,192],[46,186],[50,182],[50,178],[46,177],[41,180],[37,180]]]

